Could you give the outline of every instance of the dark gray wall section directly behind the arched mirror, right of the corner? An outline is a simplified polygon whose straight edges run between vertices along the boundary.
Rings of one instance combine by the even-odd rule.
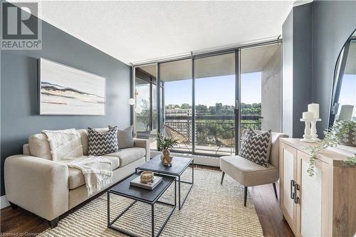
[[[356,1],[313,1],[313,91],[320,104],[318,133],[328,127],[334,68],[342,46],[356,29]]]

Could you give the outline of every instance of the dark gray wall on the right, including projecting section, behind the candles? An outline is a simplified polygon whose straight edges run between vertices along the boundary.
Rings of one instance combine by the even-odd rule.
[[[283,131],[303,135],[299,121],[320,104],[318,135],[328,128],[337,56],[356,28],[356,1],[313,1],[295,6],[283,23]],[[290,93],[293,95],[290,95]]]

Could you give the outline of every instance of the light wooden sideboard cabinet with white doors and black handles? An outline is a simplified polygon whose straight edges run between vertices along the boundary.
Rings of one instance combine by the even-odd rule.
[[[356,167],[342,163],[345,155],[323,149],[310,177],[309,145],[281,139],[279,200],[284,218],[295,236],[355,236]]]

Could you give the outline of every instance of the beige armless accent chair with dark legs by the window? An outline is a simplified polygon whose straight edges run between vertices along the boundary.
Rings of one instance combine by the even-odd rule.
[[[224,181],[226,173],[229,177],[238,181],[239,184],[244,185],[244,206],[246,206],[248,186],[273,184],[274,193],[276,199],[278,199],[276,181],[279,179],[279,139],[281,137],[288,137],[288,135],[272,132],[271,153],[267,168],[239,155],[220,158],[220,169],[222,171],[221,184]]]

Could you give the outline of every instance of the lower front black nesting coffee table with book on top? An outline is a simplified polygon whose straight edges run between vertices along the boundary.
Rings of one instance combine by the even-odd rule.
[[[112,224],[115,223],[115,221],[117,221],[117,219],[120,218],[123,214],[125,214],[125,212],[128,209],[130,209],[130,207],[133,206],[137,201],[141,201],[145,204],[151,205],[152,237],[159,236],[164,226],[166,225],[167,221],[169,220],[169,217],[172,216],[172,213],[177,205],[177,191],[176,191],[177,184],[175,182],[176,178],[167,175],[155,174],[155,176],[162,177],[162,182],[159,183],[155,187],[155,189],[147,190],[135,186],[130,186],[130,181],[138,176],[140,176],[140,174],[132,174],[130,177],[127,177],[124,181],[120,182],[120,184],[117,184],[116,186],[114,186],[112,189],[108,191],[108,228],[112,228],[115,231],[125,233],[128,236],[138,237],[135,233],[130,233],[130,231],[125,231],[121,228],[117,228],[115,226],[112,226]],[[158,201],[159,197],[161,197],[162,194],[164,194],[164,191],[166,191],[173,182],[174,182],[174,204],[169,204],[164,201]],[[120,213],[118,216],[116,216],[112,221],[110,221],[110,194],[124,196],[128,199],[134,200],[132,204],[130,204],[130,206],[127,206],[127,208],[124,211],[122,211],[122,213]],[[155,204],[156,203],[172,206],[172,210],[169,212],[169,215],[164,220],[162,227],[159,228],[159,231],[155,235]]]

